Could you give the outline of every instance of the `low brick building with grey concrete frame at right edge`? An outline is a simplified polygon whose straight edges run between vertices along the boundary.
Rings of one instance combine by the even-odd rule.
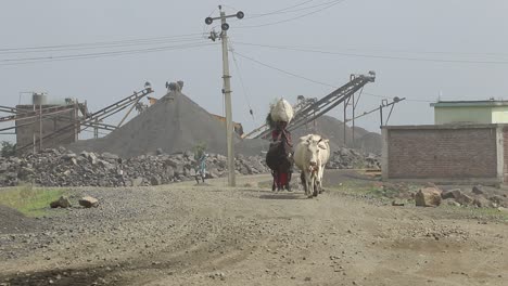
[[[508,125],[386,126],[382,138],[383,180],[508,182]]]

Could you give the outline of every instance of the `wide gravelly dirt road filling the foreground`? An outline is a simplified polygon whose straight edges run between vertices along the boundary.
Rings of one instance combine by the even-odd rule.
[[[100,207],[0,234],[0,285],[508,284],[504,221],[339,191],[275,194],[257,187],[267,179],[73,190]]]

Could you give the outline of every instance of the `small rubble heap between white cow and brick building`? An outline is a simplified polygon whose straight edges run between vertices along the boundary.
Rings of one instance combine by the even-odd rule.
[[[328,169],[381,169],[380,156],[352,148],[339,148],[330,156]]]

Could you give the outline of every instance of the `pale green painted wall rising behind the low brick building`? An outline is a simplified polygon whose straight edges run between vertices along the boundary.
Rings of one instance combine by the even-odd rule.
[[[481,107],[434,107],[434,122],[436,125],[471,122],[471,123],[492,123],[494,118],[492,106]],[[495,107],[505,108],[505,107]],[[508,112],[508,109],[506,109]],[[496,113],[496,118],[507,118],[508,114]]]

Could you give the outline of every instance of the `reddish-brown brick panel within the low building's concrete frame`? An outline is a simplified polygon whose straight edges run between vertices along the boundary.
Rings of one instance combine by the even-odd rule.
[[[388,129],[389,179],[497,177],[496,127]],[[508,130],[507,130],[508,131]],[[508,138],[508,132],[504,134]],[[505,139],[505,144],[508,140]],[[505,146],[505,150],[508,145]],[[505,152],[505,156],[508,156]],[[508,157],[505,157],[508,164]],[[505,168],[507,170],[507,168]],[[508,176],[508,174],[507,174]]]

